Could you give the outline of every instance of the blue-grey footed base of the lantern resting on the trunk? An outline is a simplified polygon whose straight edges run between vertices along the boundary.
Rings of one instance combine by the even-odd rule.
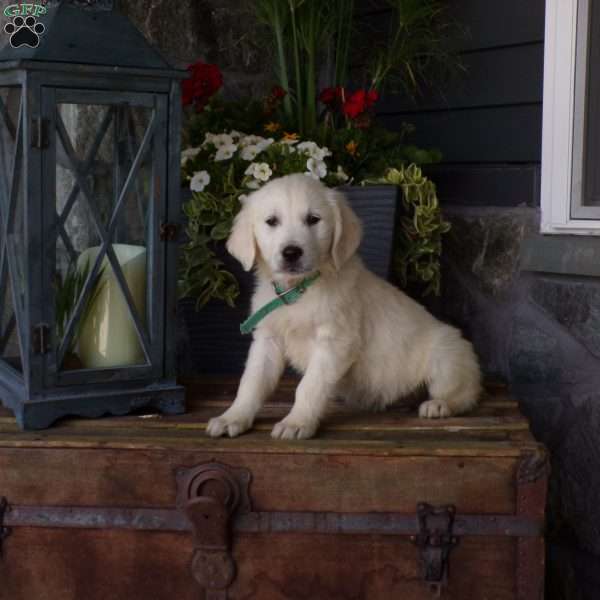
[[[4,391],[0,400],[11,409],[21,429],[45,429],[62,417],[98,418],[104,415],[126,415],[143,409],[154,409],[166,415],[185,412],[185,390],[174,381],[152,383],[125,390],[98,386],[98,391],[57,393],[33,401],[9,400]]]

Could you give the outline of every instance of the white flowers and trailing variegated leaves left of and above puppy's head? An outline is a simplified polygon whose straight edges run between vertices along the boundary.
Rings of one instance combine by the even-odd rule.
[[[233,306],[239,286],[219,255],[243,196],[272,176],[306,172],[311,156],[321,157],[317,162],[327,170],[327,182],[339,184],[340,179],[337,171],[327,168],[327,149],[315,144],[304,148],[294,140],[275,142],[234,130],[229,134],[209,133],[202,144],[185,152],[182,176],[191,186],[192,198],[183,207],[188,241],[181,253],[179,293],[197,298],[198,307],[211,298]],[[256,174],[251,171],[254,167]],[[197,181],[194,175],[199,177]]]

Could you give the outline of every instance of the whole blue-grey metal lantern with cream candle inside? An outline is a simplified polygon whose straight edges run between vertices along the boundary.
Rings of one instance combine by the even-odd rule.
[[[113,11],[31,6],[0,51],[0,398],[28,429],[182,412],[185,74]]]

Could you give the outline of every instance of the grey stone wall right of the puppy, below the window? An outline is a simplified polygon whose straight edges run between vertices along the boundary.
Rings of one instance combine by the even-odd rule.
[[[600,589],[600,280],[522,268],[537,208],[452,206],[440,313],[509,382],[551,453],[548,597]]]

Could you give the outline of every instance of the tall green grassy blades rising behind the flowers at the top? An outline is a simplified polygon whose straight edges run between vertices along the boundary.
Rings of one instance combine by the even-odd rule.
[[[362,32],[354,0],[255,0],[273,46],[274,75],[288,92],[280,120],[303,137],[319,128],[318,85],[346,86],[354,56],[370,56],[364,86],[416,96],[439,75],[462,68],[450,51],[459,33],[441,0],[387,0],[387,31]],[[322,68],[324,66],[324,68]],[[356,80],[358,73],[353,70]]]

